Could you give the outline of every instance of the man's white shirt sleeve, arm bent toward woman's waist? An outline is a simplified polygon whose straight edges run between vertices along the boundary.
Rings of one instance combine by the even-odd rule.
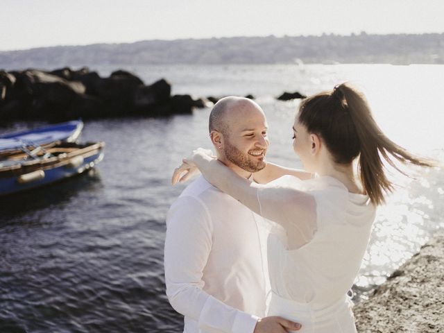
[[[203,291],[203,269],[212,247],[212,221],[198,198],[183,196],[167,215],[165,284],[171,306],[205,332],[253,332],[257,316],[225,305]]]

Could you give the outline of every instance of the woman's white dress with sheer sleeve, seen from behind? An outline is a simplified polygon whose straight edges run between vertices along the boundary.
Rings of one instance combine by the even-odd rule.
[[[364,257],[375,206],[332,177],[284,176],[257,191],[270,222],[269,316],[302,324],[298,332],[356,332],[347,293]]]

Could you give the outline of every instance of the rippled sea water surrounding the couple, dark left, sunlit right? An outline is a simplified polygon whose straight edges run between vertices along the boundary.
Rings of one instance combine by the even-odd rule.
[[[98,68],[109,74],[115,68]],[[254,94],[270,126],[268,160],[300,167],[291,150],[298,101],[340,80],[363,87],[380,126],[395,142],[444,159],[444,66],[290,65],[135,67],[173,93]],[[168,119],[85,123],[83,140],[105,141],[95,172],[0,199],[0,332],[180,332],[182,317],[164,296],[164,219],[184,185],[171,171],[196,146],[210,148],[209,110]],[[35,126],[15,123],[1,132]],[[381,283],[443,228],[444,175],[421,171],[397,179],[380,207],[355,291]],[[357,300],[359,297],[356,298]]]

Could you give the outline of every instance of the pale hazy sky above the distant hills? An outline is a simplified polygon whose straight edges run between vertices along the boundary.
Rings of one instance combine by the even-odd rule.
[[[0,50],[139,40],[443,33],[442,0],[0,0]]]

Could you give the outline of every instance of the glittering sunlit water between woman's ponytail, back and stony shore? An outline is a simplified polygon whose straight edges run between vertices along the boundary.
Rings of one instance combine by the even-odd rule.
[[[404,178],[402,187],[378,208],[358,287],[384,282],[443,227],[443,171],[438,167],[421,172],[416,179]]]

